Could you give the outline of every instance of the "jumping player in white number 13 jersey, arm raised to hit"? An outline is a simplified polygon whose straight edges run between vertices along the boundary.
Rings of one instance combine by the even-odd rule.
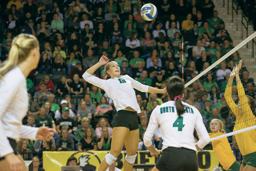
[[[98,171],[106,171],[109,165],[116,161],[122,151],[124,142],[126,147],[124,171],[131,171],[137,157],[136,152],[140,139],[137,120],[137,113],[140,113],[140,107],[136,100],[134,88],[148,93],[166,93],[166,89],[160,90],[149,87],[135,81],[128,75],[120,75],[119,65],[115,61],[108,61],[107,57],[102,56],[99,62],[90,67],[83,75],[87,82],[105,90],[107,95],[114,101],[117,110],[112,124],[111,150],[102,159]],[[106,80],[93,76],[92,74],[104,64],[106,64]]]

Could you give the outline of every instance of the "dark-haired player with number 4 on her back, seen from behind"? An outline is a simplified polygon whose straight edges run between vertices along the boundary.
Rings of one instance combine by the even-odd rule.
[[[163,154],[152,171],[198,171],[196,151],[209,143],[209,135],[201,113],[193,106],[181,101],[184,83],[172,77],[166,87],[170,101],[157,106],[151,113],[143,142],[151,156],[160,154],[151,142],[158,125],[161,127]],[[194,128],[200,140],[194,145]]]

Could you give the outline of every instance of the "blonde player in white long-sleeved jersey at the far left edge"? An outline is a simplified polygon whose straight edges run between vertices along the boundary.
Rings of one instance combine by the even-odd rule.
[[[19,138],[50,140],[56,130],[22,125],[28,111],[26,78],[40,59],[39,42],[33,35],[20,34],[12,41],[8,61],[0,68],[0,170],[26,171],[17,155]]]

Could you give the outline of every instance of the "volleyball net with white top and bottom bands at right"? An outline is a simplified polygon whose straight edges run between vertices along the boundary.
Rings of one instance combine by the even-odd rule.
[[[224,134],[214,132],[216,136],[211,138],[211,141],[228,137],[231,142],[233,135],[256,129],[255,106],[250,105],[250,101],[256,101],[255,37],[256,32],[233,49],[230,48],[229,52],[221,50],[226,53],[223,57],[213,59],[215,63],[209,67],[205,65],[197,76],[192,74],[192,78],[188,78],[191,80],[185,84],[184,101],[201,112],[208,133],[216,131],[216,124],[219,124],[220,128],[221,124],[223,125],[221,132]],[[239,64],[241,59],[241,82],[238,82],[241,84],[237,84],[234,77],[232,85],[227,86],[233,67]],[[198,139],[196,132],[195,139]]]

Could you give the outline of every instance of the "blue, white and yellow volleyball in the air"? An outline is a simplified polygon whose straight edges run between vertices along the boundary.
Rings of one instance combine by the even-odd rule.
[[[157,7],[151,3],[147,3],[141,8],[140,15],[144,20],[154,20],[157,17]]]

